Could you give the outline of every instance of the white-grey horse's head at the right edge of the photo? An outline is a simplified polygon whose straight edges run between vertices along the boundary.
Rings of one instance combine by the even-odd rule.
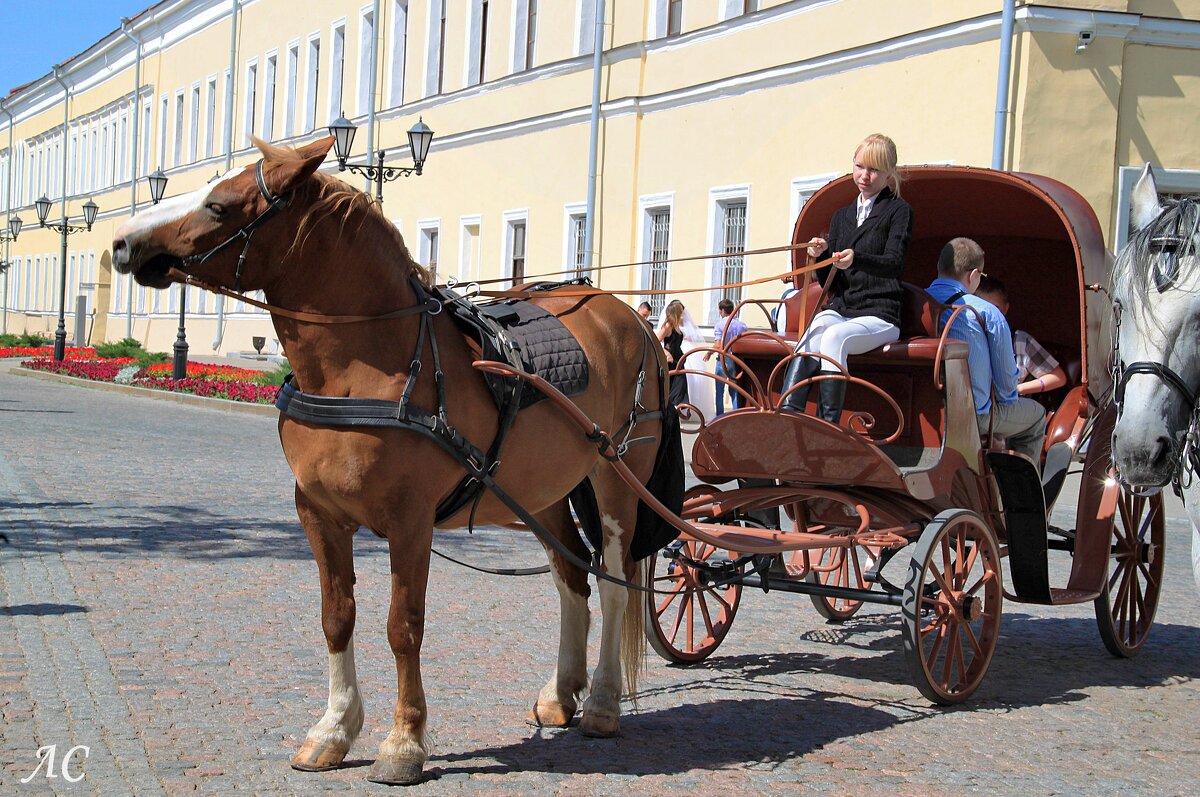
[[[1121,355],[1112,461],[1128,484],[1162,486],[1200,389],[1200,197],[1159,202],[1147,163],[1132,210],[1136,232],[1112,275]]]

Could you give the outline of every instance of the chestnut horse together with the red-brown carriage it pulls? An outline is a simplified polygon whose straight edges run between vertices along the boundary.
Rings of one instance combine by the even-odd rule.
[[[1102,300],[1100,313],[1090,313],[1086,289],[1103,278],[1104,248],[1094,216],[1066,186],[980,169],[905,174],[916,210],[910,278],[932,276],[947,239],[974,238],[989,268],[1012,277],[1014,294],[1021,286],[1015,323],[1079,364],[1068,367],[1075,383],[1056,397],[1046,449],[1066,450],[1081,468],[1075,528],[1049,525],[1032,462],[980,442],[965,344],[947,335],[944,308],[917,287],[907,289],[904,337],[852,359],[850,377],[832,377],[851,383],[839,424],[778,409],[802,322],[792,335],[731,341],[726,354],[740,364],[748,405],[702,424],[692,469],[704,485],[680,515],[647,487],[665,473],[661,493],[682,492],[678,426],[666,407],[665,355],[629,305],[589,286],[556,284],[488,311],[515,325],[536,322],[541,341],[575,344],[571,359],[558,349],[550,358],[559,384],[574,385],[571,398],[523,367],[512,328],[480,322],[494,332],[484,352],[511,358],[484,361],[496,358],[481,359],[456,320],[478,316],[474,302],[433,284],[367,194],[318,172],[331,143],[258,143],[257,163],[138,214],[113,242],[114,266],[142,284],[187,281],[269,310],[295,371],[277,402],[280,438],[320,575],[330,678],[328,707],[294,767],[342,766],[364,725],[353,646],[352,539],[361,527],[390,551],[397,693],[368,775],[384,783],[419,781],[430,755],[420,654],[434,526],[520,519],[538,532],[562,621],[557,666],[529,720],[566,726],[582,712],[580,730],[590,736],[619,732],[647,625],[667,658],[703,659],[752,587],[806,593],[830,619],[864,603],[900,606],[917,684],[938,702],[978,687],[1006,597],[1092,600],[1114,653],[1141,647],[1162,576],[1162,501],[1110,478],[1115,412],[1099,398],[1104,364],[1088,367],[1103,360],[1090,349],[1106,352],[1099,320],[1108,307]],[[848,179],[817,192],[794,240],[809,240],[852,192]],[[242,290],[263,290],[266,301]],[[815,302],[802,294],[796,304],[788,318],[810,316]],[[593,551],[569,504],[584,483]],[[1051,503],[1057,490],[1049,490]],[[683,532],[649,568],[640,557],[660,545],[640,547],[644,508]],[[1051,582],[1051,552],[1073,557],[1063,586]],[[589,574],[600,581],[602,617],[590,677]]]

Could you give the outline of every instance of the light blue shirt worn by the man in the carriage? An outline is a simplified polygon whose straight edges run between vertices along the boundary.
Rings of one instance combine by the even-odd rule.
[[[967,287],[958,280],[937,277],[929,286],[929,295],[941,302],[947,302]],[[996,401],[1010,405],[1016,401],[1016,355],[1013,353],[1013,332],[1008,329],[1004,313],[985,299],[966,293],[954,304],[967,305],[979,312],[979,318],[970,311],[959,313],[950,326],[950,337],[967,343],[967,368],[971,371],[971,392],[974,396],[976,413],[991,412],[991,389],[996,389]],[[942,323],[949,319],[953,310],[942,313]]]

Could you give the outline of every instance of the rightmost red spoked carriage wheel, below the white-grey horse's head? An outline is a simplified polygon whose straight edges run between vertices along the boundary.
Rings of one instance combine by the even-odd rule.
[[[1163,543],[1166,537],[1163,496],[1135,496],[1123,486],[1112,519],[1109,577],[1096,599],[1100,639],[1112,655],[1128,658],[1150,636],[1163,585]]]

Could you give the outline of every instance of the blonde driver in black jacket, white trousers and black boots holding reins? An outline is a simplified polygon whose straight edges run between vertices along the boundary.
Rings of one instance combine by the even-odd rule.
[[[818,312],[797,344],[797,352],[815,352],[829,360],[803,356],[787,366],[782,389],[816,373],[838,373],[846,358],[863,354],[900,337],[900,276],[912,239],[912,208],[900,198],[896,145],[887,136],[868,136],[854,150],[854,186],[858,198],[833,215],[829,238],[814,239],[809,256],[826,252],[839,269],[829,288],[829,302]],[[817,271],[824,281],[826,266]],[[832,360],[832,361],[830,361]],[[841,418],[845,379],[817,383],[817,414],[830,424]],[[784,400],[782,408],[804,412],[808,386]]]

